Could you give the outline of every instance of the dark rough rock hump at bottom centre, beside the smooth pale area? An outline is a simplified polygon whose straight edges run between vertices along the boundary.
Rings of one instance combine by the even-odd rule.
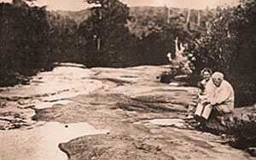
[[[129,135],[90,135],[59,145],[61,151],[74,159],[164,159],[175,158],[162,154],[160,146],[152,146]]]

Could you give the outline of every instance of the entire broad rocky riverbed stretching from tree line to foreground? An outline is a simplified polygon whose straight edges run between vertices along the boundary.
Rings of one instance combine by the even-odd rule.
[[[165,70],[61,64],[1,88],[0,159],[255,159],[185,123],[198,89],[160,83]]]

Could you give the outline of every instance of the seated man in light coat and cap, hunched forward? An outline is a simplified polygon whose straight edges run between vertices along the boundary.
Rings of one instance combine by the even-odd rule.
[[[213,85],[212,85],[213,84]],[[206,97],[201,99],[195,111],[197,117],[207,120],[212,109],[220,115],[231,113],[234,109],[234,90],[230,83],[224,80],[224,75],[215,72],[212,75],[212,84],[206,86]]]

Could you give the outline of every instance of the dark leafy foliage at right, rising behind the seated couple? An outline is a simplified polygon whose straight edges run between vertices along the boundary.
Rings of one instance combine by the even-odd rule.
[[[236,106],[255,102],[256,83],[256,5],[255,1],[241,2],[238,7],[218,9],[210,30],[196,41],[195,68],[223,71],[234,86]]]

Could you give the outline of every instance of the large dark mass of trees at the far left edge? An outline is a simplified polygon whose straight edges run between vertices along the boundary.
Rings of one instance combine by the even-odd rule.
[[[49,26],[44,8],[30,8],[22,1],[0,3],[0,75],[30,74],[50,60]]]

